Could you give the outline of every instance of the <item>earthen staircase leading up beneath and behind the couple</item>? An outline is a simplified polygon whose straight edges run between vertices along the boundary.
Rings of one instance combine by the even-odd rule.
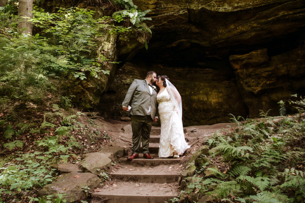
[[[126,157],[117,161],[109,174],[111,181],[98,192],[92,193],[93,199],[100,202],[164,202],[179,193],[179,178],[183,158],[159,158],[158,149],[160,128],[152,128],[149,152],[154,159],[128,160]]]

